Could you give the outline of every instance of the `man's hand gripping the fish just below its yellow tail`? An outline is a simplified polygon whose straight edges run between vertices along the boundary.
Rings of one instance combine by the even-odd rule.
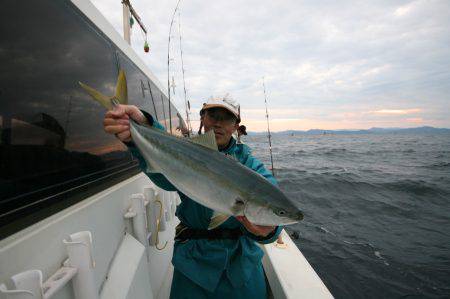
[[[133,105],[116,105],[109,110],[103,119],[103,129],[106,133],[116,135],[122,142],[131,141],[130,118],[140,124],[146,124],[144,114]]]

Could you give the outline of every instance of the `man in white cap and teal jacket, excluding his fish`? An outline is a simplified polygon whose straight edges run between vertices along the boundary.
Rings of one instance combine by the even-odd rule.
[[[205,132],[214,131],[221,153],[277,184],[272,173],[251,155],[250,148],[232,138],[241,120],[239,105],[228,98],[211,98],[203,104],[200,116]],[[119,105],[106,113],[105,131],[125,142],[145,172],[146,162],[131,139],[129,118],[162,130],[164,127],[135,106]],[[178,191],[163,174],[145,173],[159,188],[177,191],[181,199],[176,211],[180,224],[172,257],[170,298],[267,298],[261,262],[264,253],[257,243],[274,242],[282,227],[253,225],[245,216],[239,216],[208,230],[211,209]]]

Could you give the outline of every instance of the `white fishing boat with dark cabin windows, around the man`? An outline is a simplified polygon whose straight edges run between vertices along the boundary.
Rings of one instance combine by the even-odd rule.
[[[0,10],[0,298],[168,298],[179,198],[103,132],[78,82],[169,132],[182,113],[87,0],[4,1]],[[286,232],[262,245],[273,298],[332,295]]]

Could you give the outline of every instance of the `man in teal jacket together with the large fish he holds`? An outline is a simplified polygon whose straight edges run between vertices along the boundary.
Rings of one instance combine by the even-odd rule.
[[[281,225],[296,223],[303,214],[249,147],[232,138],[239,106],[227,98],[208,100],[200,112],[205,134],[180,138],[147,112],[123,105],[128,102],[124,74],[114,97],[80,84],[110,109],[105,131],[129,147],[158,187],[181,198],[170,297],[267,298],[263,251],[256,242],[272,243]]]

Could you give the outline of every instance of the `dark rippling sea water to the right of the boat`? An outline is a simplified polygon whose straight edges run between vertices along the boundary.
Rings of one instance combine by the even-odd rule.
[[[450,134],[272,141],[305,214],[286,229],[336,298],[450,298]],[[270,165],[266,136],[244,142]]]

